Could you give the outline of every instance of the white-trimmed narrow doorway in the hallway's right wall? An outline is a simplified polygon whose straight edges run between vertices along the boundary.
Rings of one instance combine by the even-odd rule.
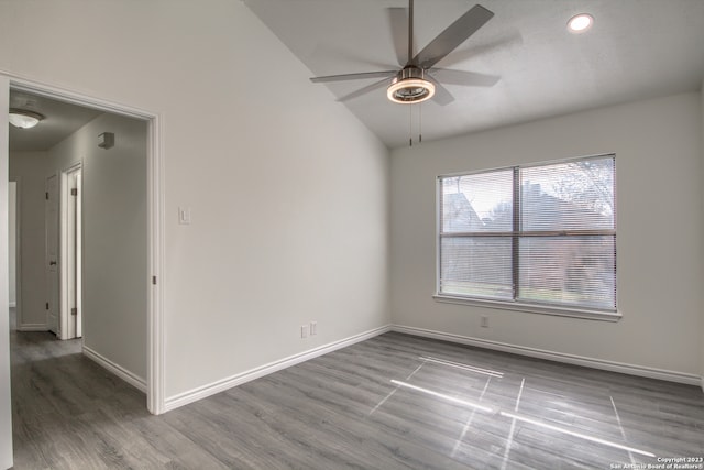
[[[80,166],[63,173],[62,185],[62,339],[82,336],[81,318],[81,171]]]

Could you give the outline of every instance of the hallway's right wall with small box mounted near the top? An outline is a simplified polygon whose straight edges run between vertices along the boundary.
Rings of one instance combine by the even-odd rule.
[[[98,135],[114,133],[114,146]],[[82,162],[84,346],[146,381],[146,122],[101,114],[48,151],[47,172]]]

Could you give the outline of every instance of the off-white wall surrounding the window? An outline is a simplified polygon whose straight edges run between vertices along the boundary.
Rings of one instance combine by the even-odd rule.
[[[596,109],[392,153],[395,324],[696,378],[704,214],[700,94]],[[433,302],[436,176],[616,153],[618,323]],[[490,328],[480,317],[490,317]]]

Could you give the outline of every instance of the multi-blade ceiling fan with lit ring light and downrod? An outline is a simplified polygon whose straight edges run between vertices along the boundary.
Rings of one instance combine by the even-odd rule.
[[[406,28],[404,9],[389,9],[392,32],[402,33]],[[432,40],[426,47],[414,56],[414,0],[408,0],[408,53],[403,50],[404,39],[400,34],[394,34],[400,69],[362,72],[356,74],[328,75],[312,77],[312,83],[331,83],[344,80],[358,80],[364,78],[382,78],[382,80],[353,91],[339,101],[356,98],[372,90],[387,86],[386,96],[393,102],[417,103],[428,99],[444,106],[454,100],[450,91],[441,83],[461,86],[490,87],[498,81],[499,77],[477,74],[473,72],[455,70],[449,68],[435,68],[435,65],[466,41],[480,28],[494,17],[494,13],[475,4],[462,17],[457,19],[444,31]],[[391,80],[389,80],[391,78]]]

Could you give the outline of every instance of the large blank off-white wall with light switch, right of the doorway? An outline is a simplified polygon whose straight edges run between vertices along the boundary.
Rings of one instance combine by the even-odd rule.
[[[388,152],[242,2],[1,2],[0,70],[162,117],[167,398],[389,323]]]

